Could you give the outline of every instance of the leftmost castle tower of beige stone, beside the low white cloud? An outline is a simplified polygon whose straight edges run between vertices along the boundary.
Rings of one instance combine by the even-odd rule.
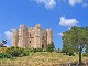
[[[13,37],[12,37],[12,46],[18,46],[18,42],[19,42],[19,30],[18,29],[13,29]]]

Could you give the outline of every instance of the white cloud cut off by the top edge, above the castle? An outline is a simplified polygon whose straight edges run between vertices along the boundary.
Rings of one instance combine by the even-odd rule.
[[[45,8],[47,9],[52,9],[56,6],[56,1],[55,0],[35,0],[37,3],[43,3],[45,6]]]

